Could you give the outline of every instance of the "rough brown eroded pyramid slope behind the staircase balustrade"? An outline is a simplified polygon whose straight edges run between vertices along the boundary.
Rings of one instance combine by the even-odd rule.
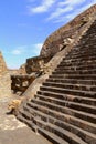
[[[66,25],[63,25],[53,32],[46,38],[41,50],[41,55],[46,56],[57,53],[60,51],[60,44],[62,44],[65,39],[73,38],[84,24],[92,20],[92,16],[95,11],[96,4],[77,16]]]

